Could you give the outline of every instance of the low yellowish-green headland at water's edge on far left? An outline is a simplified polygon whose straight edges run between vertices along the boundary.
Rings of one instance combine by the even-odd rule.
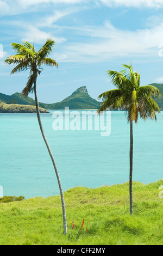
[[[36,113],[36,107],[0,102],[0,113]],[[40,113],[48,113],[48,111],[44,108],[40,108]]]

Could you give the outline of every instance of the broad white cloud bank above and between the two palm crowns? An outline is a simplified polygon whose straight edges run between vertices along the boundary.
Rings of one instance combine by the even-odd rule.
[[[105,22],[103,27],[76,29],[87,36],[87,42],[67,44],[61,56],[55,53],[58,61],[102,62],[111,58],[134,56],[159,58],[159,45],[163,43],[163,23],[134,32],[117,29],[110,22]]]

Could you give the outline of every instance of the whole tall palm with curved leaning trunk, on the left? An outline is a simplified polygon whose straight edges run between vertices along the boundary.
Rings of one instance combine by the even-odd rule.
[[[63,221],[64,221],[64,234],[67,235],[67,223],[66,223],[66,210],[65,210],[65,200],[64,193],[62,191],[62,186],[59,178],[58,169],[51,151],[49,147],[48,141],[46,139],[45,133],[43,131],[41,118],[40,118],[40,109],[39,109],[39,101],[37,99],[37,90],[36,90],[36,80],[37,76],[41,74],[42,66],[56,66],[58,68],[58,64],[54,59],[47,58],[48,54],[52,52],[52,48],[54,47],[55,42],[51,38],[47,39],[46,43],[40,48],[38,52],[35,52],[34,45],[32,46],[29,42],[23,42],[23,44],[12,43],[12,48],[17,52],[16,55],[10,56],[5,60],[5,63],[11,65],[16,64],[16,67],[11,71],[11,74],[16,72],[24,71],[30,69],[30,75],[28,77],[28,82],[26,87],[22,90],[22,94],[27,97],[29,93],[35,94],[35,104],[36,104],[36,112],[37,119],[39,121],[40,130],[42,133],[42,137],[45,141],[46,147],[48,149],[49,155],[51,156],[55,173],[57,175],[58,185],[60,189],[61,195],[61,203],[62,203],[62,213],[63,213]]]

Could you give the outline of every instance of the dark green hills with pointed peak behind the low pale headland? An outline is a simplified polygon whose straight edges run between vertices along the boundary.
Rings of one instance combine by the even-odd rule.
[[[15,93],[11,96],[0,93],[0,101],[5,103],[35,105],[35,100],[31,97],[25,98],[21,93]],[[70,109],[97,109],[100,106],[100,102],[92,99],[87,93],[86,86],[83,86],[60,102],[52,104],[39,102],[39,105],[45,109],[64,109],[65,107],[69,107]]]

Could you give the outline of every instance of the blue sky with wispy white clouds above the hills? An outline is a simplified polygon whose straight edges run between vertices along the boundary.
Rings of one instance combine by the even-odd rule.
[[[97,99],[114,88],[106,71],[122,64],[132,63],[141,86],[163,83],[162,10],[163,0],[0,0],[0,93],[21,93],[29,76],[10,75],[11,43],[35,40],[39,51],[49,37],[59,68],[43,67],[40,102],[59,102],[82,86]]]

